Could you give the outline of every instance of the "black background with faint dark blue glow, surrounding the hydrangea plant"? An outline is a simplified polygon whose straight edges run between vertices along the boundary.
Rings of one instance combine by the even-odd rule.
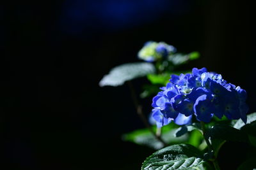
[[[111,67],[138,61],[148,40],[197,50],[202,57],[184,69],[221,73],[247,90],[250,112],[256,109],[255,17],[248,2],[8,3],[0,7],[4,169],[140,169],[154,150],[122,141],[122,134],[143,127],[129,89],[98,83]],[[145,81],[134,81],[138,92]],[[150,100],[142,101],[145,112]]]

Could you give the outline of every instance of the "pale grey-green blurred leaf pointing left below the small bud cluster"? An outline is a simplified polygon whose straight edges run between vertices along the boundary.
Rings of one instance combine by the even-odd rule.
[[[155,71],[154,65],[148,62],[122,64],[111,69],[109,74],[105,75],[102,80],[100,80],[99,85],[101,87],[106,85],[123,85],[125,81],[146,76],[147,74],[155,73]]]

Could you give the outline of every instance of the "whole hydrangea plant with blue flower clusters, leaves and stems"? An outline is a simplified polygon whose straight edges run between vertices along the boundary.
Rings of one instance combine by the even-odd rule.
[[[148,41],[138,52],[144,62],[114,67],[99,83],[102,87],[129,85],[147,128],[124,134],[123,139],[158,150],[143,162],[143,170],[221,169],[218,154],[227,141],[248,145],[248,155],[237,169],[256,167],[256,113],[247,115],[246,91],[205,67],[179,70],[198,57],[198,52],[177,53],[172,45]],[[140,97],[152,97],[148,119],[131,83],[143,76],[149,83],[141,86]]]

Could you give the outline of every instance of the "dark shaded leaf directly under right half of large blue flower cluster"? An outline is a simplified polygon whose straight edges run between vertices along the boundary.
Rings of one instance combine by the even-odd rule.
[[[227,141],[248,141],[245,133],[227,124],[213,125],[205,134],[206,138],[223,139]]]

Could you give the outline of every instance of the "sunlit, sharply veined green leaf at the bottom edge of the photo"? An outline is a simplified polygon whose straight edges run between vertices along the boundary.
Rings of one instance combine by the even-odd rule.
[[[143,162],[141,170],[205,169],[206,164],[200,150],[192,145],[179,144],[153,153]]]

